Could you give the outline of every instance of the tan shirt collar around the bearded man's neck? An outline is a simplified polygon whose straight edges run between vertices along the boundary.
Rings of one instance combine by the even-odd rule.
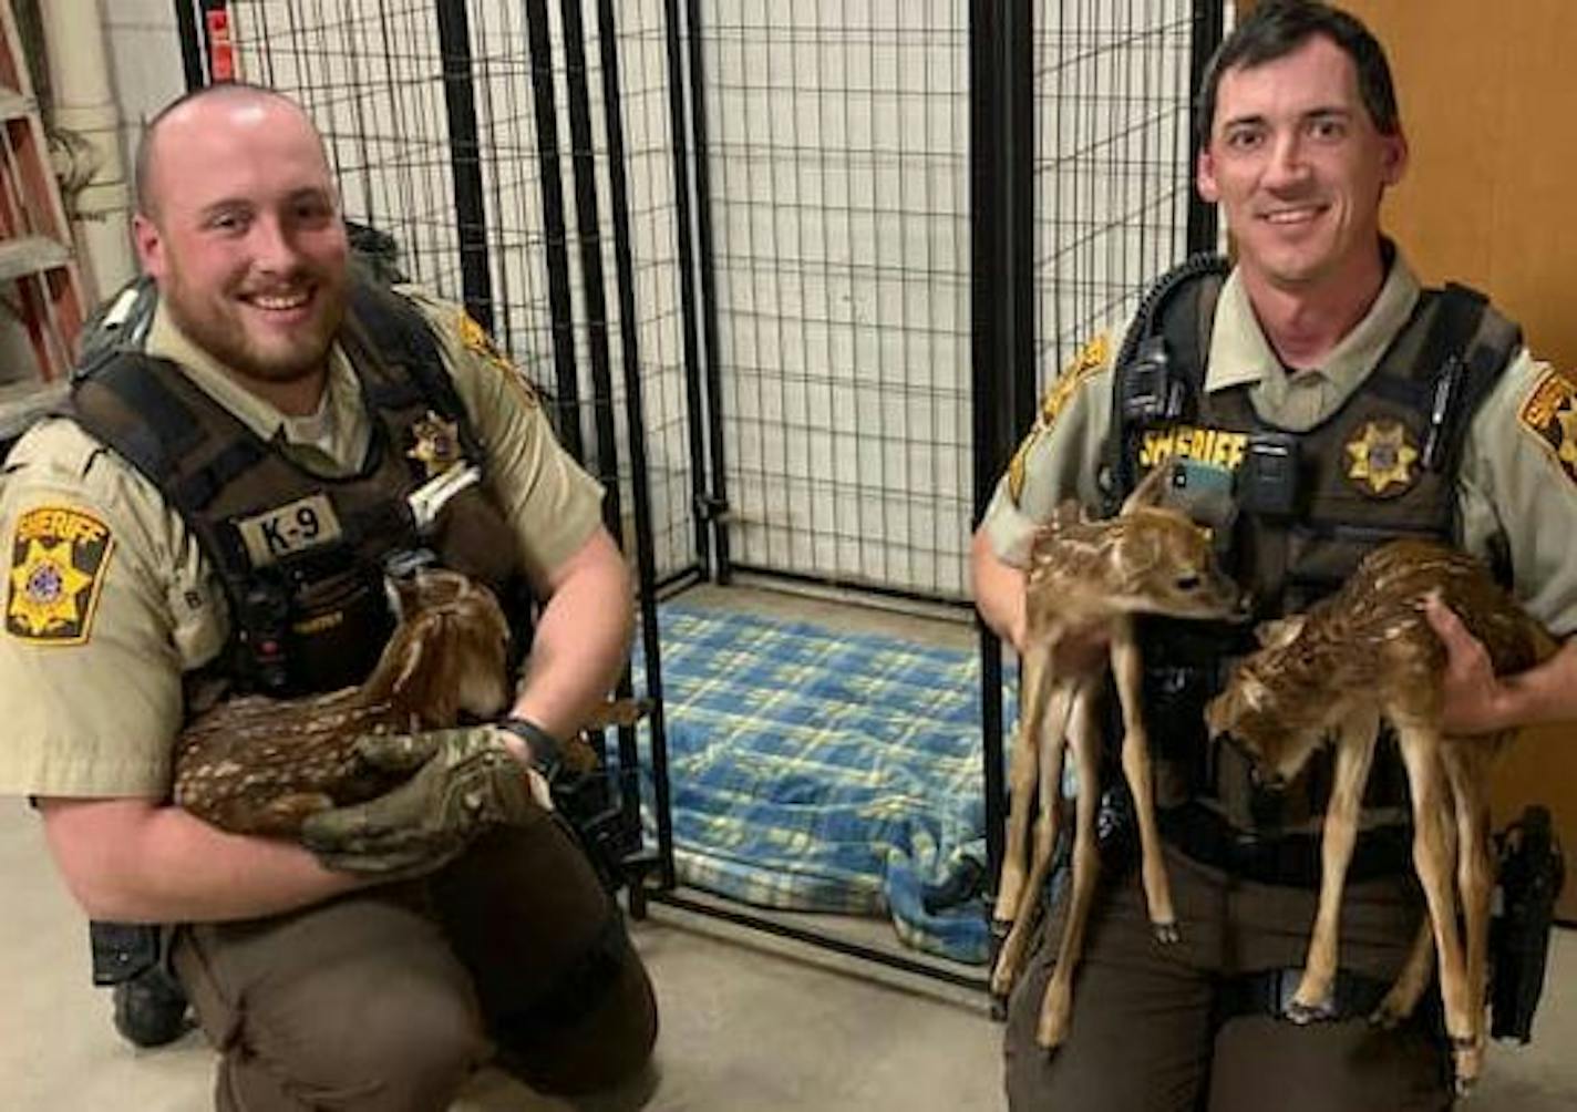
[[[330,352],[328,388],[317,412],[304,416],[290,416],[246,390],[219,360],[181,331],[162,301],[153,314],[147,353],[180,366],[205,394],[263,440],[308,448],[331,461],[336,470],[360,468],[371,429],[364,418],[356,420],[364,413],[361,385],[339,344]]]

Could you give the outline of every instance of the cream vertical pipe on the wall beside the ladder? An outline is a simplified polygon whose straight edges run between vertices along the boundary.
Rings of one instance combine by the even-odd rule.
[[[39,9],[54,95],[55,172],[96,301],[137,273],[104,22],[98,0],[49,0]]]

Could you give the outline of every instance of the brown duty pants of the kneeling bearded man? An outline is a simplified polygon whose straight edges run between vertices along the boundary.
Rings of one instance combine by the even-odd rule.
[[[610,1088],[647,1065],[656,1000],[623,932],[599,935],[610,912],[544,817],[419,882],[181,927],[172,959],[222,1055],[221,1112],[434,1112],[494,1058],[552,1093]],[[598,937],[610,957],[588,962]]]

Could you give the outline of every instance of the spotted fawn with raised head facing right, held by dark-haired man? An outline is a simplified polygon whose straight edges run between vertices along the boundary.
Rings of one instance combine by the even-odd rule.
[[[1058,674],[1053,662],[1064,637],[1082,637],[1091,629],[1109,637],[1109,662],[1123,710],[1123,776],[1139,820],[1145,901],[1156,937],[1162,942],[1178,937],[1151,800],[1134,615],[1235,618],[1243,617],[1244,599],[1236,584],[1221,573],[1206,533],[1183,513],[1159,505],[1172,475],[1172,467],[1156,467],[1128,497],[1121,513],[1109,521],[1083,521],[1076,503],[1064,503],[1035,536],[1030,552],[1023,702],[1009,768],[1012,803],[994,913],[998,923],[1011,921],[1012,929],[992,970],[992,992],[998,998],[1006,997],[1023,962],[1038,894],[1050,869],[1061,809],[1063,756],[1071,743],[1079,774],[1072,896],[1036,1033],[1047,1049],[1061,1044],[1068,1030],[1072,973],[1099,871],[1094,815],[1101,738],[1096,710],[1104,669]],[[1036,785],[1039,817],[1025,877],[1025,842]]]

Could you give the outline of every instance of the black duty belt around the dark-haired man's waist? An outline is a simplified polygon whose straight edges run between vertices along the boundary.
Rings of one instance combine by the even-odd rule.
[[[1200,803],[1161,811],[1161,836],[1184,856],[1244,880],[1287,888],[1320,886],[1318,834],[1265,834],[1230,827]],[[1413,861],[1408,827],[1378,827],[1358,834],[1347,866],[1351,883],[1394,877]]]

